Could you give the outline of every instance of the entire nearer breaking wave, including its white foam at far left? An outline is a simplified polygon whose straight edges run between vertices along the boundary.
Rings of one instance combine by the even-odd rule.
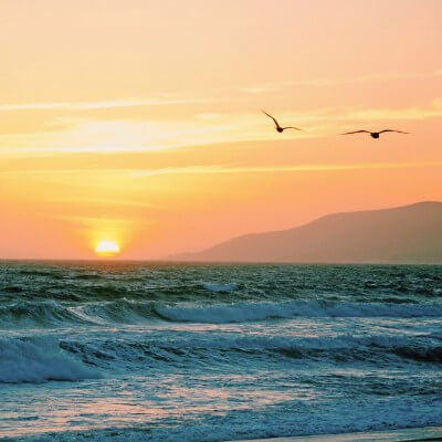
[[[231,364],[282,367],[325,360],[364,365],[441,364],[442,347],[429,336],[302,337],[177,332],[167,337],[105,333],[77,340],[69,335],[38,338],[0,338],[0,383],[81,380],[101,377],[102,370],[198,369]]]

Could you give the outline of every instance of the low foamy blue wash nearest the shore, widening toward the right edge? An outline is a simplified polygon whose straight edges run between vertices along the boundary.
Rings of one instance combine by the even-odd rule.
[[[118,427],[104,414],[106,427],[72,430],[62,425],[56,433],[27,434],[17,441],[218,442],[280,440],[277,438],[288,441],[294,436],[301,440],[324,436],[324,440],[436,441],[441,438],[440,398],[336,398],[318,402],[294,399],[272,407],[238,408],[223,413],[201,412],[199,419],[192,415],[193,419],[172,420],[167,415],[150,425],[134,422]],[[385,434],[379,434],[379,431]]]

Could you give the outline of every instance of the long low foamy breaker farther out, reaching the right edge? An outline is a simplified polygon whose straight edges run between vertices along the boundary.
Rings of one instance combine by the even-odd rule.
[[[295,317],[441,317],[442,304],[334,303],[288,301],[284,303],[239,303],[210,306],[157,304],[164,319],[182,323],[242,323]]]

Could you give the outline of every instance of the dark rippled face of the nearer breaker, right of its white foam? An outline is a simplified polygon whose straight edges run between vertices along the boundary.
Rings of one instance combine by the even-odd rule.
[[[196,334],[177,332],[162,337],[130,336],[118,338],[106,334],[87,343],[62,340],[60,346],[81,358],[84,362],[106,370],[244,367],[267,365],[283,367],[295,359],[302,364],[338,361],[339,364],[362,362],[364,365],[440,364],[442,347],[428,336],[351,336],[302,337],[302,336],[225,336],[210,332]]]

